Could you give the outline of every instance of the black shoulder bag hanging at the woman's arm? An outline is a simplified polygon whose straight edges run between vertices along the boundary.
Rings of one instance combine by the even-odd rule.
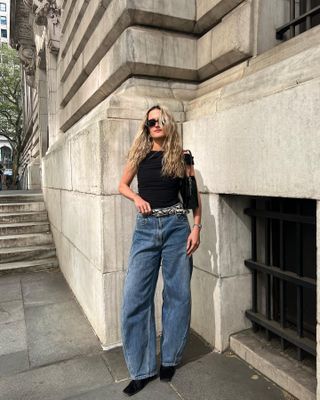
[[[180,194],[182,198],[183,208],[185,208],[186,210],[194,210],[199,206],[199,202],[196,178],[191,173],[193,157],[190,150],[185,151],[184,159],[186,169],[185,176],[181,179]]]

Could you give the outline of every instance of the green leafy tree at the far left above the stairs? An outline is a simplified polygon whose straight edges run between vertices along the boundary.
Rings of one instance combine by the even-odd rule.
[[[6,137],[13,150],[13,182],[16,182],[22,151],[21,64],[17,52],[0,47],[0,135]]]

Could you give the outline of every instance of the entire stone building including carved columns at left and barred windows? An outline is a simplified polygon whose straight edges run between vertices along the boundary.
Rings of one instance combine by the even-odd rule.
[[[241,342],[241,335],[233,336],[252,323],[265,327],[265,319],[274,320],[267,332],[287,335],[288,325],[295,331],[299,323],[284,306],[293,299],[288,296],[295,282],[299,294],[292,301],[303,310],[307,300],[312,303],[310,315],[305,312],[308,321],[302,321],[304,334],[298,335],[298,353],[315,355],[318,11],[296,27],[286,25],[308,11],[303,9],[307,3],[11,1],[12,43],[24,65],[26,84],[27,186],[42,187],[61,270],[105,348],[121,340],[121,295],[135,219],[133,205],[118,194],[118,182],[139,121],[146,109],[161,103],[173,111],[184,148],[194,153],[203,199],[202,244],[194,256],[192,278],[192,328],[218,351],[231,344],[297,397],[316,398],[311,367],[299,370],[304,383],[274,373],[276,369],[268,372],[267,356],[255,356],[248,338]],[[318,9],[317,0],[311,6]],[[276,37],[279,27],[284,29]],[[300,214],[306,208],[306,215],[302,211],[292,217],[292,204]],[[278,228],[265,223],[269,217],[280,220]],[[311,243],[309,250],[302,246],[301,257],[308,266],[313,262],[310,276],[299,282],[303,272],[286,274],[281,264],[295,248],[291,233],[286,233],[288,221],[312,225],[307,232],[299,228],[303,243],[308,238]],[[270,232],[272,245],[267,241]],[[279,235],[286,239],[277,250]],[[271,283],[263,278],[271,276],[265,270],[272,264],[267,261],[270,248],[273,259],[280,254],[278,270],[268,270],[275,273]],[[291,279],[285,290],[282,278]],[[303,295],[299,285],[309,285],[310,294]],[[161,282],[158,315],[160,298]],[[276,307],[278,300],[281,306]],[[270,307],[272,315],[265,319],[248,312],[262,314]],[[300,308],[295,310],[298,320],[303,319]],[[281,339],[282,345],[297,344],[290,335]],[[310,374],[303,375],[305,370]]]

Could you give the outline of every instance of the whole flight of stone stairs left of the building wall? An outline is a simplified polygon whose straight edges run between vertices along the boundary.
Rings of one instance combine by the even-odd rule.
[[[58,267],[41,192],[0,192],[0,273]]]

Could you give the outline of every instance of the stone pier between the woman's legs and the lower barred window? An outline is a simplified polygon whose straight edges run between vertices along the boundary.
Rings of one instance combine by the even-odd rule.
[[[202,191],[201,246],[194,255],[192,328],[217,350],[228,347],[232,333],[247,329],[251,304],[250,218],[248,196],[209,193],[199,171]]]

